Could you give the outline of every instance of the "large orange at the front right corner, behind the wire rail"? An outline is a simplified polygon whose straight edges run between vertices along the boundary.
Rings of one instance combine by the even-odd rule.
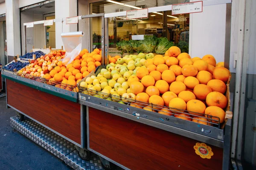
[[[205,117],[207,117],[210,122],[223,123],[225,120],[225,111],[219,108],[218,106],[207,107],[204,111],[204,114],[206,114]],[[212,116],[216,116],[216,117],[212,117]]]

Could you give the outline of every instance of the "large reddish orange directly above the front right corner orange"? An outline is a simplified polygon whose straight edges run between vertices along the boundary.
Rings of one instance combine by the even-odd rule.
[[[227,97],[218,91],[213,91],[207,95],[206,104],[208,106],[218,106],[224,109],[227,107]]]

